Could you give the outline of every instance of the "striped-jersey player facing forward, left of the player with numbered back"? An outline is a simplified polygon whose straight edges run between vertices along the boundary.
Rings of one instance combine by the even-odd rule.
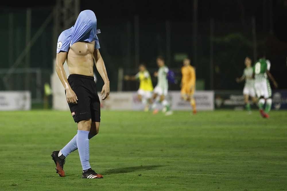
[[[245,58],[245,66],[246,68],[243,71],[243,75],[240,78],[236,78],[236,82],[242,82],[245,80],[245,85],[243,88],[243,96],[244,96],[244,102],[245,102],[245,108],[248,112],[251,111],[251,106],[249,103],[249,96],[252,99],[252,102],[254,104],[257,103],[257,98],[255,95],[255,88],[254,88],[254,79],[253,79],[253,69],[251,67],[251,59],[249,57]]]

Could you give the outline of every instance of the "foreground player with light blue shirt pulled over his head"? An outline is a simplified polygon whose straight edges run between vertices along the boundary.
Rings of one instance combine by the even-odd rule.
[[[61,177],[65,176],[65,158],[78,149],[83,169],[82,178],[103,178],[92,170],[89,163],[89,139],[97,135],[100,128],[100,99],[94,82],[94,61],[104,81],[100,93],[103,95],[102,100],[110,93],[108,75],[99,52],[96,26],[95,13],[91,10],[82,11],[75,25],[64,30],[58,39],[56,71],[65,88],[71,115],[78,126],[75,137],[63,149],[51,154],[57,173]],[[63,68],[66,60],[70,73],[68,79]]]

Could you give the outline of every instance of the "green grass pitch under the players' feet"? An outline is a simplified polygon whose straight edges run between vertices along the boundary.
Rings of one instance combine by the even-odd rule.
[[[0,112],[0,190],[287,190],[287,111],[102,111],[82,179],[78,152],[56,174],[50,155],[76,134],[68,111]]]

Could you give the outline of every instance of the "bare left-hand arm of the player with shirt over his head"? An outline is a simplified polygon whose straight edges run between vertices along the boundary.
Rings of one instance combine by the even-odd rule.
[[[63,67],[63,65],[67,59],[67,55],[68,55],[68,52],[57,53],[57,56],[56,56],[56,72],[57,72],[65,90],[66,90],[67,102],[76,104],[77,100],[78,100],[77,95],[72,90],[72,88],[71,88],[71,86],[67,80],[67,75],[66,75],[66,72],[65,72],[64,67]]]

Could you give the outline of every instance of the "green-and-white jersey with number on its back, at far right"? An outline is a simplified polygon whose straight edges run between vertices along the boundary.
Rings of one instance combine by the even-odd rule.
[[[270,70],[271,63],[266,59],[259,59],[256,64],[253,66],[253,72],[255,73],[255,83],[266,81],[267,74],[266,71]]]

